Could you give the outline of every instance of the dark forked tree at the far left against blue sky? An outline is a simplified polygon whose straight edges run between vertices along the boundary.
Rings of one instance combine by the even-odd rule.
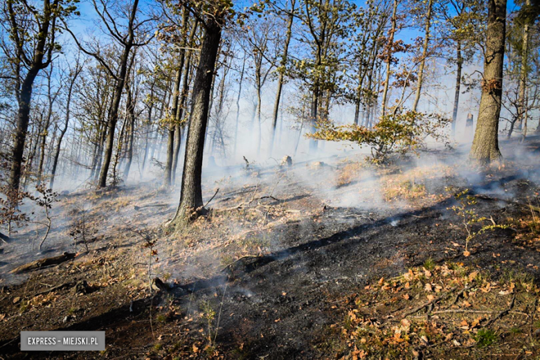
[[[43,0],[41,6],[26,0],[7,0],[2,10],[2,26],[9,34],[9,48],[5,49],[12,73],[17,111],[17,127],[13,145],[10,186],[18,190],[24,159],[26,133],[30,120],[30,101],[34,80],[39,71],[53,62],[53,55],[60,51],[57,44],[58,23],[77,14],[76,0]]]

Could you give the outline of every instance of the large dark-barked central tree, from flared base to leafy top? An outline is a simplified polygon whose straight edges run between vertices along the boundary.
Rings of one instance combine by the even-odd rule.
[[[192,105],[183,174],[180,203],[171,224],[181,226],[193,217],[204,213],[201,173],[204,153],[204,136],[208,125],[210,91],[214,78],[215,62],[222,28],[234,14],[233,4],[228,0],[211,0],[201,6],[187,1],[183,3],[204,28],[199,55],[199,65],[193,82]]]

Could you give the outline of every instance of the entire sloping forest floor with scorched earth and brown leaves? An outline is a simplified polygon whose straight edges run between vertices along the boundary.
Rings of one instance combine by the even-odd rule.
[[[502,150],[489,172],[460,150],[212,170],[212,211],[176,233],[153,183],[64,195],[45,251],[33,228],[1,246],[0,358],[537,359],[540,140]],[[21,330],[107,348],[20,352]]]

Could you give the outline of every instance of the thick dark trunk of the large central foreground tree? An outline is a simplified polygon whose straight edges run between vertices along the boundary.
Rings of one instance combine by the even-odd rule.
[[[180,204],[172,220],[172,224],[176,226],[186,224],[191,219],[191,214],[204,206],[201,189],[204,137],[208,125],[210,91],[221,35],[221,26],[213,20],[208,21],[201,45],[197,75],[195,75],[193,84],[193,103],[186,156],[183,162]]]

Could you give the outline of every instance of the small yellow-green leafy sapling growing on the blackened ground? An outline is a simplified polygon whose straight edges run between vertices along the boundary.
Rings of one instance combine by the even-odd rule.
[[[474,206],[478,204],[478,201],[476,201],[474,196],[467,194],[469,194],[469,190],[465,189],[462,192],[458,192],[456,195],[454,195],[459,205],[455,205],[450,208],[461,218],[463,228],[465,228],[465,231],[467,232],[467,238],[465,239],[465,251],[463,251],[463,255],[466,257],[471,255],[469,252],[469,242],[471,242],[471,240],[473,240],[475,237],[482,235],[486,231],[495,230],[496,228],[510,227],[509,225],[496,224],[493,217],[480,217],[480,215],[478,215],[474,209]],[[473,226],[475,224],[485,221],[490,221],[492,224],[481,226],[478,231],[474,231]]]

